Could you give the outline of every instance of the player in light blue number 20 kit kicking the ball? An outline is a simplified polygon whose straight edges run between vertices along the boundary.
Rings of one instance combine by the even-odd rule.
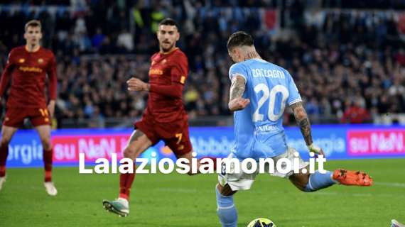
[[[308,150],[323,155],[323,150],[313,144],[311,125],[291,75],[284,68],[262,60],[254,48],[252,36],[247,33],[239,31],[232,34],[227,41],[227,49],[235,62],[229,69],[232,85],[228,105],[229,110],[234,111],[235,136],[229,157],[239,160],[248,157],[255,160],[272,158],[275,163],[287,158],[293,163],[296,150],[288,148],[282,126],[282,116],[287,106],[293,110]],[[315,192],[335,183],[372,185],[371,177],[364,172],[339,169],[309,174],[308,164],[301,157],[299,165],[300,173],[291,171],[283,174],[276,171],[273,175],[290,179],[303,192]],[[233,194],[238,190],[250,189],[256,176],[257,172],[225,172],[218,176],[217,215],[222,226],[237,226]]]

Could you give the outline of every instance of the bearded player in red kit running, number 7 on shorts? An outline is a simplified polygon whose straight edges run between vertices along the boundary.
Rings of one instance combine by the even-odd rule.
[[[191,163],[193,148],[188,135],[188,116],[182,101],[188,60],[175,46],[180,38],[175,21],[171,18],[161,21],[157,37],[160,51],[151,57],[149,83],[134,77],[127,82],[129,91],[148,91],[148,104],[141,121],[135,123],[136,130],[124,149],[124,157],[135,160],[146,149],[163,140],[177,158],[187,158]],[[134,177],[134,174],[120,175],[119,198],[104,200],[104,209],[120,216],[129,214],[129,192]]]

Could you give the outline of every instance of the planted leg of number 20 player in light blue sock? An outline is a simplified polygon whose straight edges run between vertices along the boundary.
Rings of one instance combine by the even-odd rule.
[[[215,187],[217,193],[217,216],[220,218],[222,227],[236,227],[237,226],[237,209],[234,205],[235,193],[228,184],[222,187],[217,184]]]

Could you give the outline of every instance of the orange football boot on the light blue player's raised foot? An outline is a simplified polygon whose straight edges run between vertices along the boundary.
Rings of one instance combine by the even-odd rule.
[[[333,179],[344,185],[372,186],[372,178],[360,171],[338,169],[333,172]]]

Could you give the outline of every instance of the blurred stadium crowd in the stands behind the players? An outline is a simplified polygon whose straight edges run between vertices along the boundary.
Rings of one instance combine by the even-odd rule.
[[[158,50],[156,25],[166,16],[178,21],[178,45],[188,55],[183,94],[190,118],[230,114],[226,40],[239,30],[252,33],[265,60],[291,72],[312,121],[367,123],[377,114],[405,113],[405,45],[394,11],[311,11],[301,1],[276,11],[245,8],[274,1],[205,7],[205,1],[92,2],[75,12],[0,11],[6,21],[0,70],[6,53],[23,43],[23,24],[43,22],[43,45],[58,57],[59,120],[140,117],[147,93],[127,92],[126,80],[147,80],[149,57]],[[286,114],[285,120],[292,118]]]

